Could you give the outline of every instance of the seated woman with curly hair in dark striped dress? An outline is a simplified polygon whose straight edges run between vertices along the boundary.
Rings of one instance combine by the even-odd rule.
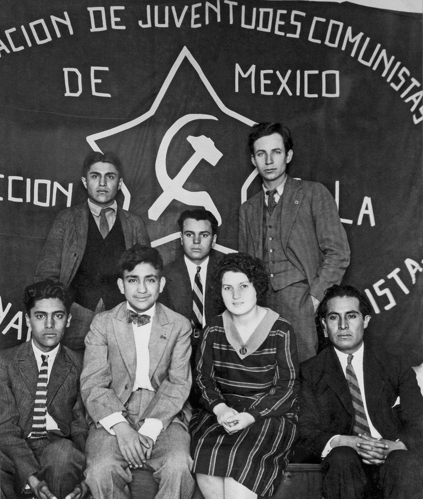
[[[289,322],[257,304],[261,260],[222,256],[214,275],[226,310],[197,351],[202,409],[190,424],[193,471],[205,499],[272,496],[296,436],[298,356]]]

